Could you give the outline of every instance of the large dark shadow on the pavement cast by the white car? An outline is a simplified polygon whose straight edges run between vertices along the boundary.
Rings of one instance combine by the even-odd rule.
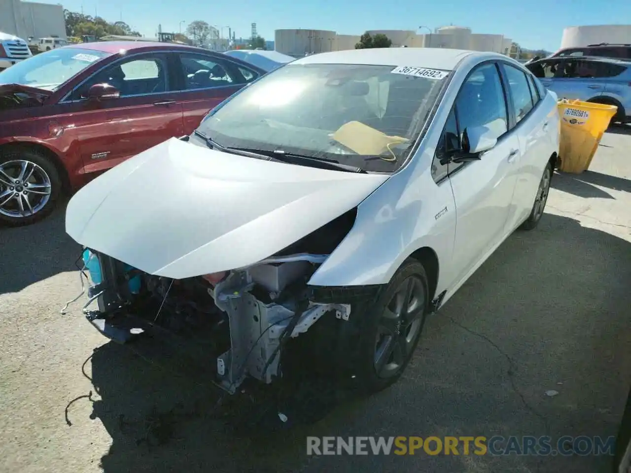
[[[305,446],[308,435],[615,435],[631,379],[630,285],[629,242],[545,214],[536,230],[512,235],[428,319],[396,385],[329,407],[314,424],[255,427],[247,435],[234,429],[235,419],[254,419],[247,392],[227,396],[202,379],[148,363],[131,347],[107,343],[86,360],[97,394],[91,419],[100,419],[112,438],[100,467],[105,473],[606,470],[606,456],[315,457]],[[550,385],[561,394],[544,396]]]

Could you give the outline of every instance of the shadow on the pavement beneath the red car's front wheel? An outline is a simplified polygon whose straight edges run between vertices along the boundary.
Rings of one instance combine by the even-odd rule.
[[[0,226],[0,294],[15,293],[60,272],[74,271],[81,247],[65,228],[67,201],[33,225]]]

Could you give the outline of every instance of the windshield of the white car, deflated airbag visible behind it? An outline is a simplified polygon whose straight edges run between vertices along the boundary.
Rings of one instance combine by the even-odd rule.
[[[419,70],[288,64],[216,108],[198,131],[221,146],[393,172],[405,161],[447,76],[410,74]]]

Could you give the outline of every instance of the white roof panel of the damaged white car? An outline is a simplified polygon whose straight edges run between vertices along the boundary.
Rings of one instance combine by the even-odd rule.
[[[375,66],[416,66],[452,71],[464,57],[475,54],[506,57],[498,53],[480,53],[443,48],[377,48],[322,52],[301,57],[292,64],[370,64]]]

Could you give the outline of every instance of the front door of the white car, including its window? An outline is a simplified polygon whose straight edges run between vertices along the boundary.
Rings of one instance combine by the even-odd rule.
[[[497,144],[480,160],[447,164],[457,218],[452,271],[459,283],[504,239],[517,180],[519,139],[509,131],[506,98],[494,62],[476,67],[464,81],[452,114],[447,131],[460,144],[468,127],[488,127],[497,136]]]

